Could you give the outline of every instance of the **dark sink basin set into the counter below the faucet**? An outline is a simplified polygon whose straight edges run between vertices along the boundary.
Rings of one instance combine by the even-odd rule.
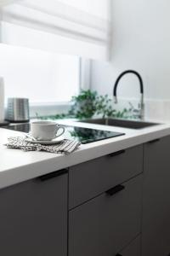
[[[156,123],[142,122],[142,121],[133,121],[127,119],[85,119],[82,120],[83,123],[95,124],[95,125],[110,125],[118,126],[129,129],[143,129],[153,125],[159,125]]]

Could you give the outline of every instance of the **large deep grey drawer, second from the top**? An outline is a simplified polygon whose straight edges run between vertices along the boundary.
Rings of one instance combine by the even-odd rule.
[[[123,183],[115,195],[104,193],[69,212],[70,256],[111,256],[139,235],[142,175]]]

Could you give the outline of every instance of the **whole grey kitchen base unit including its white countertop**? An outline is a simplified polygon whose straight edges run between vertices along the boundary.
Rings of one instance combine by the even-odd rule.
[[[170,125],[74,125],[125,135],[56,155],[5,148],[20,132],[0,129],[2,255],[168,255]]]

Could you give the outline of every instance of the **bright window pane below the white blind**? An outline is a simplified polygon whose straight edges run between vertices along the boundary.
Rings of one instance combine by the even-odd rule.
[[[79,92],[80,58],[0,45],[0,77],[6,97],[28,97],[32,103],[68,102]]]

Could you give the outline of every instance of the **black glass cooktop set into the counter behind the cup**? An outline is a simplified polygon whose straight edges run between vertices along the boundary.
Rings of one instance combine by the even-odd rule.
[[[81,128],[77,126],[67,126],[64,125],[66,128],[66,137],[77,139],[77,141],[81,142],[82,144],[87,143],[94,143],[97,141],[101,141],[111,137],[118,137],[124,135],[124,133],[114,132],[114,131],[102,131],[90,128]],[[14,131],[23,131],[29,132],[30,131],[30,124],[14,124],[14,125],[3,125],[2,128],[14,130]]]

